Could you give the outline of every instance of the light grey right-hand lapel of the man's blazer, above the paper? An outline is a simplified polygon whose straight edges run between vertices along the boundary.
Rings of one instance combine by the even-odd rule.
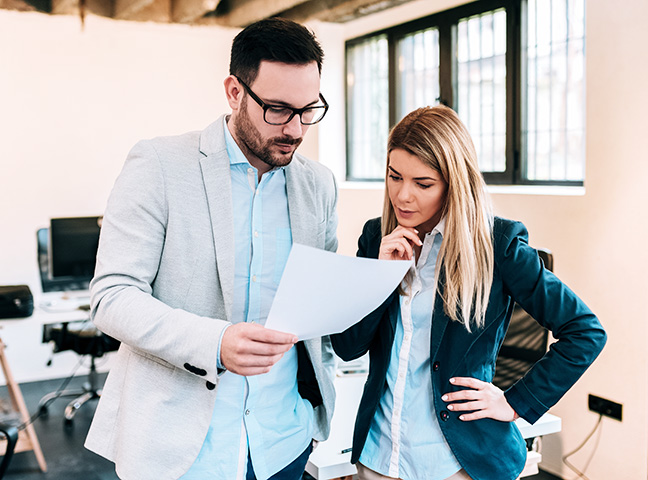
[[[316,246],[317,217],[315,215],[315,185],[313,174],[297,158],[286,168],[288,214],[293,243]]]

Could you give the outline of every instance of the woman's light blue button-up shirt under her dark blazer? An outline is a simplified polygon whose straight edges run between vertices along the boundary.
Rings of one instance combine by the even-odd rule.
[[[371,470],[404,480],[444,480],[461,469],[432,401],[430,337],[444,227],[445,219],[425,236],[418,262],[408,274],[409,295],[400,296],[387,390],[359,459]]]

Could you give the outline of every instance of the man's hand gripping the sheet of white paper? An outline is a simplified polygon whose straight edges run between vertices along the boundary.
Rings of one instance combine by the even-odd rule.
[[[297,340],[292,333],[270,330],[257,323],[235,323],[223,334],[221,363],[239,375],[268,373]]]

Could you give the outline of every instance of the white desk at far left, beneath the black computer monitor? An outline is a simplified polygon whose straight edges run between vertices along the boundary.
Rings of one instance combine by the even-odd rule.
[[[38,302],[37,302],[38,303]],[[79,364],[80,357],[75,352],[65,351],[52,355],[52,346],[42,343],[43,325],[89,321],[88,313],[81,310],[46,311],[41,307],[26,318],[0,320],[0,337],[6,345],[6,356],[17,383],[34,382],[70,376]],[[110,369],[112,354],[106,354],[97,362],[97,371]],[[52,360],[51,366],[47,362]],[[78,375],[86,375],[86,365],[80,367]]]

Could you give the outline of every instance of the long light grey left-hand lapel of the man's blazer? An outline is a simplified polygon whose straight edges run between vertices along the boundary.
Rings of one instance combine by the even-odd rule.
[[[225,312],[229,320],[232,316],[234,296],[234,217],[230,162],[225,147],[223,117],[201,133],[200,150],[205,155],[200,160],[200,168],[216,249],[216,268]]]

